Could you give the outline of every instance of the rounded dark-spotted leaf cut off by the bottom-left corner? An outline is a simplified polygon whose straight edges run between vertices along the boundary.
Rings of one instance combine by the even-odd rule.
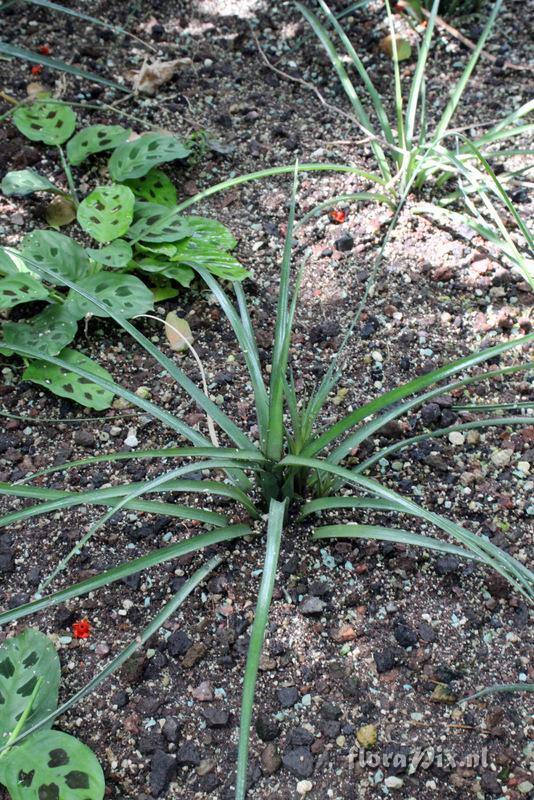
[[[104,773],[83,742],[61,731],[38,731],[0,760],[11,800],[102,800]]]

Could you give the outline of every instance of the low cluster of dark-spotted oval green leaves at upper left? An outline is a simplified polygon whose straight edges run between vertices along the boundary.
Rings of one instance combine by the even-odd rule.
[[[177,287],[191,284],[195,264],[221,279],[242,280],[248,275],[231,253],[237,242],[228,228],[214,219],[182,214],[176,188],[160,168],[186,159],[193,143],[163,133],[131,140],[132,131],[120,125],[91,125],[74,133],[74,110],[50,98],[20,106],[13,122],[31,141],[57,148],[68,191],[35,170],[24,169],[5,175],[3,193],[51,194],[56,200],[48,207],[49,224],[58,227],[76,219],[94,242],[83,247],[58,231],[34,230],[22,239],[18,253],[9,256],[0,249],[0,309],[48,304],[30,319],[3,325],[3,355],[14,352],[13,344],[29,344],[34,351],[60,355],[70,365],[110,379],[103,367],[68,347],[81,320],[110,317],[111,309],[126,318],[151,311],[154,301],[175,297]],[[95,187],[80,202],[73,169],[85,167],[89,158],[105,151],[112,151],[107,169],[113,183]],[[28,267],[30,261],[47,266],[50,274],[43,276]],[[87,289],[101,305],[88,305],[75,291],[66,291],[62,278]],[[89,408],[111,404],[112,393],[79,380],[70,370],[65,375],[40,356],[24,361],[25,380]]]

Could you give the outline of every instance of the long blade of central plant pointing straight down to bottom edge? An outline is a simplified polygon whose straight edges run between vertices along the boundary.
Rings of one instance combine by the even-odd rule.
[[[247,764],[248,748],[250,737],[250,723],[252,720],[252,707],[254,704],[254,691],[260,664],[265,628],[269,617],[269,608],[273,596],[274,581],[276,578],[276,567],[278,564],[278,554],[280,552],[280,540],[284,527],[284,514],[286,500],[282,503],[271,500],[269,506],[269,520],[267,525],[267,544],[265,548],[265,560],[263,562],[263,574],[261,577],[258,601],[252,624],[250,644],[247,653],[247,664],[245,667],[245,678],[243,680],[243,699],[241,701],[241,719],[239,723],[239,746],[237,754],[237,775],[236,775],[236,800],[244,800],[247,789]]]

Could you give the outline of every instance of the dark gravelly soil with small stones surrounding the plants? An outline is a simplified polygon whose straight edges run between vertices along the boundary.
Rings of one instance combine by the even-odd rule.
[[[180,196],[192,196],[229,176],[291,164],[296,157],[374,170],[368,143],[361,143],[361,133],[342,113],[348,107],[335,76],[291,4],[162,0],[76,7],[124,25],[161,58],[191,59],[155,98],[82,89],[70,77],[55,85],[71,102],[115,104],[135,117],[130,124],[139,131],[156,127],[186,135],[205,129],[230,145],[230,153],[209,151],[187,171],[169,169]],[[126,81],[127,72],[139,68],[146,54],[135,40],[37,6],[17,3],[8,8],[3,23],[13,42],[34,50],[47,45],[53,57],[114,80]],[[475,17],[461,24],[471,38],[480,30]],[[306,87],[269,69],[249,25],[268,58],[284,72],[312,81],[334,110],[322,106]],[[379,4],[355,12],[346,26],[391,101],[390,63],[377,46],[387,33]],[[458,125],[476,131],[475,121],[498,118],[529,99],[531,73],[501,66],[505,60],[526,63],[527,51],[524,4],[509,2],[489,44],[497,65],[486,61],[477,68]],[[440,33],[429,65],[431,112],[443,102],[465,57],[456,39]],[[412,61],[402,65],[406,77],[413,68]],[[36,78],[22,62],[0,61],[0,74],[2,91],[17,99],[25,96],[30,81],[54,87],[57,78],[47,69]],[[2,110],[8,107],[4,103]],[[86,124],[124,122],[103,105],[80,107],[78,114]],[[50,150],[19,138],[8,123],[0,136],[2,171],[33,166],[62,180]],[[80,171],[78,178],[91,185],[95,175]],[[350,175],[303,175],[298,215],[332,196],[370,188]],[[289,192],[287,178],[272,178],[216,194],[195,207],[196,213],[227,224],[239,239],[238,255],[253,275],[245,287],[265,368]],[[417,199],[408,202],[386,250],[375,291],[346,351],[343,391],[332,394],[321,426],[398,383],[531,329],[532,294],[521,276],[478,237],[433,227],[417,216]],[[517,188],[514,200],[524,218],[532,218],[532,192]],[[0,205],[5,242],[16,243],[43,224],[37,201],[3,198]],[[391,218],[380,205],[341,203],[340,208],[346,212],[343,223],[324,212],[295,236],[295,264],[307,256],[291,352],[302,392],[320,379],[350,324]],[[214,298],[205,287],[184,290],[158,314],[171,308],[187,316],[193,329],[212,397],[257,437],[243,360]],[[17,315],[23,311],[17,309]],[[139,327],[166,349],[156,323],[143,320]],[[203,414],[113,325],[91,320],[77,346],[129,389],[146,387],[154,401],[207,432]],[[514,350],[499,364],[527,357]],[[182,356],[181,363],[199,380],[189,356]],[[142,448],[178,443],[172,432],[135,409],[116,403],[102,419],[23,382],[22,365],[15,359],[2,357],[1,367],[4,410],[31,418],[4,420],[1,481],[87,455],[126,450],[132,437]],[[383,429],[376,447],[450,425],[459,416],[469,418],[455,410],[460,400],[532,399],[526,375],[474,384],[469,392],[415,409]],[[50,421],[58,418],[78,422]],[[362,455],[367,452],[358,452],[358,458]],[[461,440],[429,440],[375,465],[371,474],[531,563],[533,461],[534,425],[524,425],[483,429]],[[56,473],[42,485],[73,491],[106,487],[153,477],[161,469],[156,460],[104,463],[70,470],[66,477]],[[165,500],[184,502],[178,495]],[[3,498],[2,507],[15,510],[25,502]],[[216,500],[206,504],[238,519],[233,506]],[[3,529],[2,607],[29,599],[99,512],[70,509]],[[325,515],[323,522],[354,519],[399,524],[387,515],[356,512]],[[403,519],[400,524],[408,523]],[[496,574],[470,562],[394,544],[313,543],[312,527],[292,518],[284,533],[256,692],[251,800],[527,797],[533,790],[531,696],[501,694],[467,706],[454,703],[484,686],[533,682],[529,610],[522,598]],[[413,530],[425,529],[414,525]],[[186,521],[121,512],[53,588],[195,532],[198,528]],[[242,676],[263,540],[238,541],[217,552],[225,556],[222,566],[180,612],[121,672],[58,720],[61,729],[75,732],[97,753],[110,798],[233,797]],[[33,617],[31,624],[59,648],[62,698],[134,639],[203,561],[187,556]],[[90,621],[91,636],[74,639],[72,624],[83,618]],[[0,638],[23,630],[26,622],[6,626]],[[362,754],[359,743],[366,735],[376,743]]]

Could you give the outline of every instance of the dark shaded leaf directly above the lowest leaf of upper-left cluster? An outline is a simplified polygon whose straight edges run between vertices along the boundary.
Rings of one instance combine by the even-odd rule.
[[[77,322],[66,306],[51,305],[29,322],[6,322],[2,329],[1,352],[11,355],[13,351],[4,345],[18,344],[56,356],[72,342],[77,330]]]

